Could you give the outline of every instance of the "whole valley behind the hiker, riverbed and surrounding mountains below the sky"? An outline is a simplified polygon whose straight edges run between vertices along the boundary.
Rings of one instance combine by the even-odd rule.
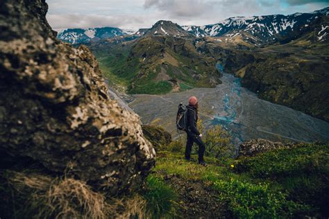
[[[206,26],[160,20],[85,44],[121,105],[174,137],[176,108],[195,95],[205,125],[221,124],[237,145],[328,141],[328,9]]]

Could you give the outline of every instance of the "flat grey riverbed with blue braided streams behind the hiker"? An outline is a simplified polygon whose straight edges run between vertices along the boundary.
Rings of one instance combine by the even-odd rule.
[[[129,106],[143,123],[159,125],[178,138],[175,119],[178,104],[189,96],[199,98],[204,123],[220,124],[233,134],[236,145],[249,139],[271,141],[329,141],[329,123],[303,112],[262,100],[241,87],[241,79],[223,73],[222,84],[215,88],[194,88],[165,95],[133,95]],[[182,133],[183,135],[185,133]]]

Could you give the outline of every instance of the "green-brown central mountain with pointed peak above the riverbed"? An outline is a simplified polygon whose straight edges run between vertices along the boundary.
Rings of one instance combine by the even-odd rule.
[[[142,33],[142,30],[137,33]],[[195,37],[171,21],[158,21],[136,39],[88,44],[112,86],[128,94],[165,94],[221,81],[216,60],[201,55]]]

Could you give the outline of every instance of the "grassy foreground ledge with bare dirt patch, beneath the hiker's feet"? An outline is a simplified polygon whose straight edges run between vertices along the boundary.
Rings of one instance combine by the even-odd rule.
[[[205,167],[197,164],[196,155],[192,161],[185,161],[183,150],[184,141],[176,141],[158,151],[144,193],[154,216],[326,218],[329,215],[328,144],[300,143],[237,159],[210,155],[205,158],[208,163]]]

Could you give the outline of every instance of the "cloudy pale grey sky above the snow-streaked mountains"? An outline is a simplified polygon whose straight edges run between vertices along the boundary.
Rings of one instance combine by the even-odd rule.
[[[329,6],[329,0],[46,0],[53,29],[111,26],[138,30],[156,21],[216,24],[228,17],[289,15]]]

